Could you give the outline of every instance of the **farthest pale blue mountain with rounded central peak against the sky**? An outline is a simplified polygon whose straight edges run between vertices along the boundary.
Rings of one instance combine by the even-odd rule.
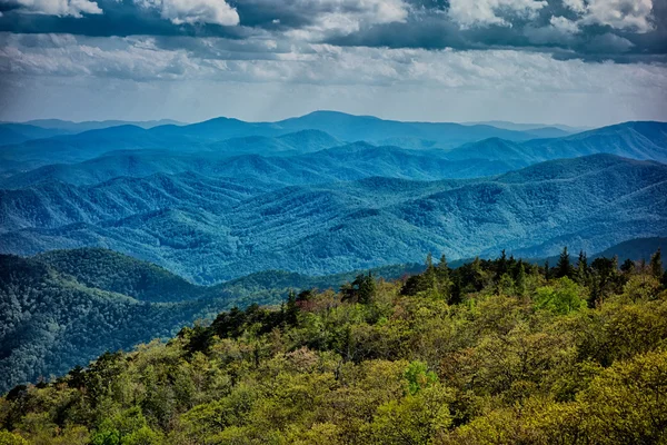
[[[39,128],[39,127],[34,127]],[[44,130],[42,131],[54,131]],[[58,136],[48,139],[24,141],[9,135],[4,144],[8,146],[0,156],[0,161],[23,161],[23,170],[53,162],[78,162],[94,158],[108,151],[128,149],[167,149],[183,151],[208,150],[207,145],[227,139],[251,138],[249,141],[237,141],[235,150],[262,154],[261,148],[252,148],[261,138],[276,138],[287,134],[305,132],[300,139],[310,138],[310,145],[326,148],[327,141],[321,135],[313,138],[312,131],[323,131],[341,141],[366,140],[378,144],[392,138],[432,141],[440,148],[454,148],[461,144],[478,141],[489,137],[508,140],[527,140],[534,135],[520,131],[498,129],[490,126],[462,126],[459,123],[400,122],[381,120],[365,116],[351,116],[332,111],[319,111],[300,118],[278,122],[245,122],[238,119],[216,118],[203,122],[177,126],[166,125],[149,129],[137,125],[121,125],[110,128],[98,128],[77,135]],[[64,131],[64,130],[61,130]],[[252,139],[255,138],[255,139]],[[259,139],[258,139],[259,138]],[[282,150],[287,146],[302,146],[303,140],[281,139],[271,141],[273,148]],[[323,142],[323,144],[322,144]],[[329,145],[330,146],[330,145]],[[212,149],[216,145],[213,144]],[[220,149],[229,149],[226,145]],[[298,152],[312,151],[312,148],[298,149]],[[238,152],[238,151],[237,151]],[[2,168],[4,170],[4,168]]]

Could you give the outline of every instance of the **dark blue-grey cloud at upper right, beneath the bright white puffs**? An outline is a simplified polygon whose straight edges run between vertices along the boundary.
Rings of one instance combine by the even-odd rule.
[[[442,11],[448,2],[419,1],[405,22],[366,27],[335,34],[327,42],[342,47],[424,48],[456,50],[519,49],[552,52],[558,59],[588,61],[667,61],[667,2],[655,1],[653,29],[617,29],[610,24],[578,23],[577,14],[560,1],[551,1],[535,17],[508,19],[507,23],[460,27]],[[431,13],[437,10],[438,13]],[[507,19],[507,18],[506,18]]]

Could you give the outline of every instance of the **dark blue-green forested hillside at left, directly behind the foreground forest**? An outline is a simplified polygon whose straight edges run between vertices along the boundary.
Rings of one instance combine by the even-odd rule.
[[[398,278],[421,269],[405,265],[372,273]],[[61,375],[108,349],[170,337],[232,306],[279,304],[290,289],[338,289],[357,274],[309,277],[266,270],[202,287],[106,249],[0,255],[0,392]]]

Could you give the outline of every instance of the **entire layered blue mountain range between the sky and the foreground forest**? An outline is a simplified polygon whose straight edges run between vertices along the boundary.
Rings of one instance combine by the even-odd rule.
[[[665,245],[667,123],[0,123],[0,390],[428,253]]]

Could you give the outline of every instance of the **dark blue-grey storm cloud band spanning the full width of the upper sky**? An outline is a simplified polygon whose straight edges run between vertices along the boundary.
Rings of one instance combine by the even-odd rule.
[[[550,52],[557,59],[667,61],[664,0],[395,0],[395,7],[405,7],[405,18],[387,17],[378,0],[229,0],[235,17],[238,13],[235,26],[169,20],[159,9],[146,7],[161,1],[166,0],[98,0],[102,13],[58,16],[22,13],[21,0],[0,0],[0,31],[237,40],[268,36],[282,42],[278,52],[291,39],[340,47],[517,49]],[[323,26],[325,17],[349,17],[352,26]],[[290,31],[302,33],[295,37]],[[182,39],[161,44],[179,41],[192,44]],[[211,51],[187,49],[202,51],[202,57]]]

